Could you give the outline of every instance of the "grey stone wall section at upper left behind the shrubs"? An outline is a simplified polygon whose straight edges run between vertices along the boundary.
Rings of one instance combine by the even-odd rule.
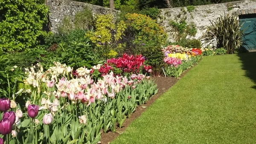
[[[46,0],[46,5],[50,12],[49,30],[52,32],[57,32],[64,16],[70,16],[74,20],[76,13],[82,11],[85,7],[88,7],[93,14],[116,14],[119,12],[102,6],[71,0]]]

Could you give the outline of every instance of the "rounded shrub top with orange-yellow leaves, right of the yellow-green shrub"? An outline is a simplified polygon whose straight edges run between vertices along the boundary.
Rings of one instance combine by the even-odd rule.
[[[166,42],[167,34],[155,20],[143,14],[126,14],[127,25],[136,32],[137,41],[154,41],[163,44]]]

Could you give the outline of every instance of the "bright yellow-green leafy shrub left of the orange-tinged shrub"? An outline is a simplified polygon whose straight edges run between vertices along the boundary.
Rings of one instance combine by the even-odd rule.
[[[113,23],[113,15],[97,15],[94,19],[94,31],[88,31],[85,37],[88,37],[90,41],[96,44],[96,52],[99,55],[107,55],[113,48],[121,48],[122,44],[117,43],[122,38],[123,32],[126,29],[124,21],[119,21],[117,24]]]

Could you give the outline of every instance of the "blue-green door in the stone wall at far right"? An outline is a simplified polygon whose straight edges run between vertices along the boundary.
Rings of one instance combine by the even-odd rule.
[[[256,50],[256,17],[241,17],[239,22],[243,23],[241,30],[244,31],[244,43],[242,46],[247,50]]]

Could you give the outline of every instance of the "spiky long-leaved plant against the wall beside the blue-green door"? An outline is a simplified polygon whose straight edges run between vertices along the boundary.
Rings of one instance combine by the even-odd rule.
[[[217,48],[223,47],[227,53],[234,53],[242,43],[243,32],[240,30],[241,23],[236,16],[225,14],[215,20],[210,21],[211,25],[206,26],[206,32],[201,39],[206,44],[212,44]]]

